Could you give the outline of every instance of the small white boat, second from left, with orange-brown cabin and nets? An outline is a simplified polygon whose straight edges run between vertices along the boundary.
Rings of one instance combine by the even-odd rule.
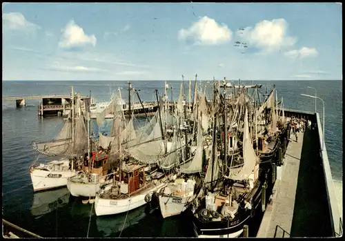
[[[110,131],[110,136],[105,136],[99,133],[99,142],[95,151],[92,151],[90,155],[90,161],[88,159],[84,163],[83,171],[78,175],[68,178],[67,187],[70,193],[75,197],[95,197],[97,191],[101,188],[111,185],[112,178],[110,173],[114,168],[117,150],[117,136],[120,135],[122,146],[128,148],[131,144],[135,143],[137,138],[132,119],[126,124],[126,128],[120,134],[117,133],[117,126],[124,126],[126,119],[124,119],[124,113],[119,102],[121,99],[120,90],[118,95],[112,99],[112,103],[103,110],[97,118],[97,123],[101,124],[109,113],[113,113],[115,116],[113,119],[113,125]],[[89,139],[90,142],[90,139]],[[88,149],[90,150],[90,143],[88,143]],[[115,146],[115,147],[114,147]],[[90,153],[90,151],[88,151]]]

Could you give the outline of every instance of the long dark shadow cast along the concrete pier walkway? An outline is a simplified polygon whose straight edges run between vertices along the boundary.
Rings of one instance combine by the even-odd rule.
[[[326,183],[316,130],[306,130],[297,180],[291,237],[331,237]]]

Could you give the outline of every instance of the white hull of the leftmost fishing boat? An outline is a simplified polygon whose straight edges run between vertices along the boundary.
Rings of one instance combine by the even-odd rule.
[[[76,175],[76,171],[44,171],[30,168],[30,177],[34,191],[55,189],[67,185],[67,179]]]

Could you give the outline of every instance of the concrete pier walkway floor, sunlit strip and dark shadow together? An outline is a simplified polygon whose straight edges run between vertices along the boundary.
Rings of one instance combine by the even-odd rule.
[[[295,142],[291,136],[284,165],[278,167],[257,238],[332,236],[317,131],[306,130],[297,137]]]

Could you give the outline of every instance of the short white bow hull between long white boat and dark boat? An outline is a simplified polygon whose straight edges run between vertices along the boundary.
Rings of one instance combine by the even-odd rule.
[[[159,195],[159,208],[163,218],[179,215],[186,210],[186,204],[192,200],[192,195],[186,197]]]

